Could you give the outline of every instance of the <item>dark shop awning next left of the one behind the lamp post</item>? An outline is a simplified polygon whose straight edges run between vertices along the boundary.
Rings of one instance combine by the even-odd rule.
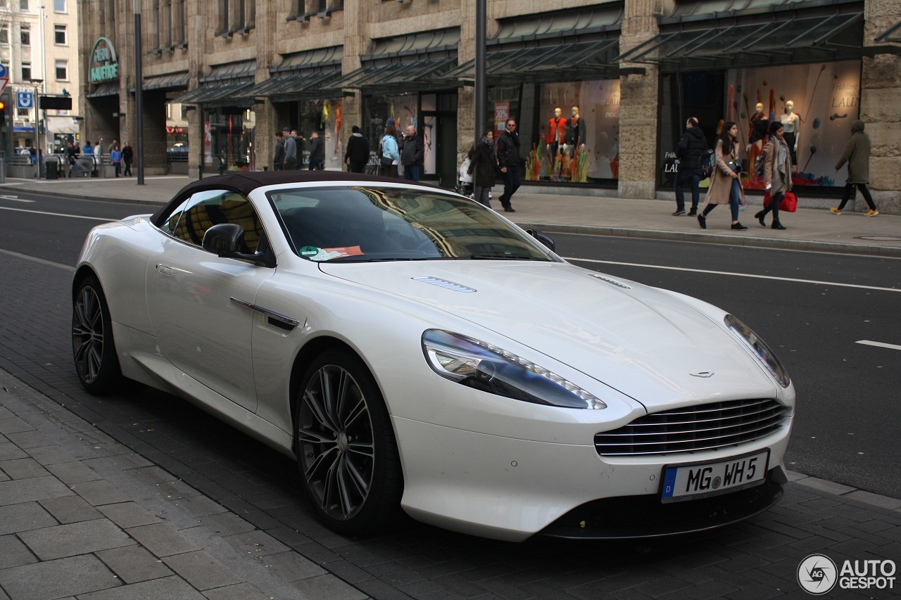
[[[447,73],[456,66],[456,57],[392,62],[383,65],[369,64],[332,81],[328,88],[335,95],[340,95],[340,91],[346,88],[361,89],[368,94],[446,89],[462,85],[455,77],[447,77]]]

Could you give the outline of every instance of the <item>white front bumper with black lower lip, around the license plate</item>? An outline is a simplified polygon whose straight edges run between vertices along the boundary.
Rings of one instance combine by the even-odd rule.
[[[520,440],[399,417],[393,423],[404,468],[401,505],[407,514],[451,531],[505,541],[523,541],[538,532],[580,538],[667,535],[747,518],[778,500],[790,430],[786,425],[766,438],[728,449],[612,459],[599,456],[593,444]],[[705,499],[660,507],[664,465],[765,449],[767,483],[751,487],[748,494],[718,496],[721,508],[703,504]],[[742,500],[746,497],[750,499]],[[646,526],[605,531],[605,523],[615,522],[621,506],[632,502],[645,508],[633,522],[645,519]],[[679,511],[689,510],[688,505],[696,506],[697,514],[688,515],[691,523],[678,523],[686,518]],[[666,523],[670,514],[677,515],[677,523]]]

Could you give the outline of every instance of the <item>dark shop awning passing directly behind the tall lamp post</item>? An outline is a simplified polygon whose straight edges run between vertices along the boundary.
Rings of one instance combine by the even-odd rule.
[[[613,61],[618,51],[618,39],[488,50],[487,81],[489,86],[495,86],[614,77],[620,75],[619,65]],[[469,60],[445,77],[460,78],[471,86],[476,77],[476,61]]]

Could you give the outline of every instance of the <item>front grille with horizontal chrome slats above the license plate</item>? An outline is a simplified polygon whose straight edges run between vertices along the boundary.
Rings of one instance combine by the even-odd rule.
[[[601,456],[692,452],[760,440],[778,431],[791,409],[775,400],[730,400],[646,414],[613,432],[597,433]]]

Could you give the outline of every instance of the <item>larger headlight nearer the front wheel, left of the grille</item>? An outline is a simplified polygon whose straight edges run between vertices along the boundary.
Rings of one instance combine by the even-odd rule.
[[[489,394],[565,408],[606,408],[601,400],[563,377],[484,341],[430,329],[423,354],[441,377]]]

